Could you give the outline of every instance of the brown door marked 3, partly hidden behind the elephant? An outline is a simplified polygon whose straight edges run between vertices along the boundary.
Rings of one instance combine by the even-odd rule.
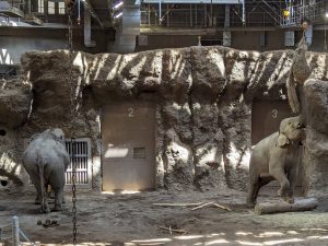
[[[251,108],[251,144],[279,131],[280,121],[292,116],[286,101],[255,101]]]

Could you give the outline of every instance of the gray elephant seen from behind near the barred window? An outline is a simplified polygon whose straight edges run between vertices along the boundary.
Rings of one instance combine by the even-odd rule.
[[[47,203],[46,188],[51,186],[55,191],[55,211],[62,209],[65,172],[70,156],[65,148],[65,134],[59,128],[47,129],[34,134],[23,154],[23,166],[36,189],[42,211],[50,212]]]

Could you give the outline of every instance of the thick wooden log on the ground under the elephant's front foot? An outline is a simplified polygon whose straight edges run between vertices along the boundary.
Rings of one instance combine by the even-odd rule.
[[[300,212],[308,211],[317,208],[318,201],[315,198],[295,199],[294,203],[281,201],[280,203],[263,202],[255,206],[255,213],[269,214],[269,213],[284,213],[284,212]]]

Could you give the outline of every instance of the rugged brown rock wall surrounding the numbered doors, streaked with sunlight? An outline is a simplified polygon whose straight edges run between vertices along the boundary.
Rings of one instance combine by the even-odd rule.
[[[33,93],[22,92],[26,102],[21,99],[16,104],[30,108],[28,96],[33,94],[31,114],[17,114],[15,107],[8,107],[21,117],[13,119],[5,117],[8,109],[1,107],[1,119],[5,119],[1,124],[12,129],[12,134],[5,138],[19,142],[50,126],[60,127],[70,136],[74,125],[77,137],[92,138],[93,186],[99,187],[98,109],[112,102],[151,101],[156,104],[159,188],[245,190],[253,102],[286,101],[285,81],[292,56],[291,50],[257,52],[224,47],[129,55],[77,52],[72,78],[69,78],[71,62],[66,50],[28,52],[22,57],[24,78],[19,87],[23,90],[26,84]],[[328,128],[318,124],[318,120],[327,122],[328,117],[327,61],[328,56],[324,54],[307,54],[312,68],[312,79],[305,86],[312,117],[304,159],[308,191],[328,187]],[[72,87],[80,112],[74,118],[69,110]],[[7,89],[1,93],[11,95],[13,91]],[[0,101],[3,101],[1,94]],[[8,148],[2,139],[0,148]],[[23,151],[22,143],[17,150]],[[14,154],[17,164],[20,153]],[[319,162],[323,156],[324,163]]]

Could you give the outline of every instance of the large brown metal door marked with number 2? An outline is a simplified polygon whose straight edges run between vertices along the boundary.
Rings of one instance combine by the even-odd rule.
[[[103,108],[103,190],[155,187],[155,108],[147,103]]]

